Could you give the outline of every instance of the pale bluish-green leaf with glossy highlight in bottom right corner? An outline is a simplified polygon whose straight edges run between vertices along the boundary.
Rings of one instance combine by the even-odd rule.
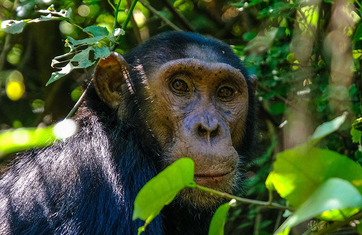
[[[316,217],[324,211],[361,207],[362,196],[357,188],[346,180],[331,178],[317,188],[274,234]]]

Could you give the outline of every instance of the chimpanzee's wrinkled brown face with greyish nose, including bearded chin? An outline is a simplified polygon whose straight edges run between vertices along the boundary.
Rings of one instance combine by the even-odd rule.
[[[165,153],[164,167],[191,158],[197,184],[232,192],[240,164],[235,146],[248,114],[243,74],[224,63],[178,59],[148,77],[146,93],[152,107],[148,125]],[[196,189],[184,189],[180,197],[198,206],[221,201]]]

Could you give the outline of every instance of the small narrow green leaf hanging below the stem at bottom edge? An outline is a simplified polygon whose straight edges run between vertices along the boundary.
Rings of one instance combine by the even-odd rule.
[[[235,199],[231,199],[230,202],[221,205],[212,216],[208,235],[224,235],[224,226],[227,211],[230,207],[234,207],[236,204]]]

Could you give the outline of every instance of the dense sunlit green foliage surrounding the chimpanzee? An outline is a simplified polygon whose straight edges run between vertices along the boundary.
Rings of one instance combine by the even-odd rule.
[[[291,233],[362,234],[360,1],[0,2],[1,162],[72,134],[51,124],[71,115],[91,66],[111,50],[122,54],[162,31],[199,32],[230,44],[258,77],[260,110],[260,151],[246,166],[242,193],[254,200],[221,194],[233,199],[219,208],[210,233],[223,233],[229,211],[226,234],[287,234],[313,217]],[[149,223],[183,187],[210,191],[192,181],[192,163],[181,164],[186,173],[167,177],[188,180],[163,185],[159,193],[168,196],[155,196],[153,211],[140,203],[135,219]]]

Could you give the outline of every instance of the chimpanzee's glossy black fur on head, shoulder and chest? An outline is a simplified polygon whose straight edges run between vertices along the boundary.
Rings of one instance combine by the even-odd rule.
[[[213,50],[210,61],[240,69],[226,44],[191,33],[160,34],[129,52],[131,68],[146,73],[172,59],[191,58],[190,45]],[[224,52],[223,52],[224,51]],[[207,57],[207,53],[206,53]],[[207,58],[206,58],[207,59]],[[139,71],[130,71],[135,94],[129,95],[129,120],[100,101],[93,87],[74,119],[79,132],[45,149],[21,153],[0,179],[1,235],[131,235],[143,221],[132,221],[139,189],[160,170],[159,147],[143,123]],[[254,99],[249,97],[248,138],[237,150],[248,156],[254,131]],[[152,203],[152,202],[150,202]],[[212,212],[170,205],[147,226],[145,235],[206,234]]]

